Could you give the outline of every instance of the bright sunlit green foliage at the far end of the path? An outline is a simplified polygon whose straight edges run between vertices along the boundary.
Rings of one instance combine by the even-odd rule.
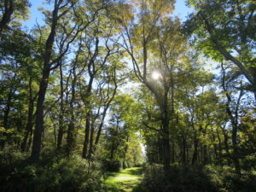
[[[143,163],[138,136],[139,104],[127,94],[116,96],[111,107],[111,119],[105,135],[102,162],[108,172]]]

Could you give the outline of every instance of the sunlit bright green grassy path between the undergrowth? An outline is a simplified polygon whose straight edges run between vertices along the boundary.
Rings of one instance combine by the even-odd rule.
[[[110,172],[106,180],[108,192],[138,192],[142,187],[143,171],[141,167],[125,169],[121,172]]]

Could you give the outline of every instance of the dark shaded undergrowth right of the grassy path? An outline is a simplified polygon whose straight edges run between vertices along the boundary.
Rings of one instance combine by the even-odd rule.
[[[172,165],[168,177],[163,166],[144,166],[143,185],[154,192],[253,192],[256,177],[238,176],[230,167]],[[254,181],[254,182],[253,182]]]

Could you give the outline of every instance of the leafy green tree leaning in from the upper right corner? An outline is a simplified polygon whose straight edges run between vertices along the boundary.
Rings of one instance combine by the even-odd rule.
[[[193,32],[197,47],[216,61],[224,58],[239,68],[256,99],[254,1],[194,1],[195,8],[186,26]],[[220,54],[220,55],[219,55]]]

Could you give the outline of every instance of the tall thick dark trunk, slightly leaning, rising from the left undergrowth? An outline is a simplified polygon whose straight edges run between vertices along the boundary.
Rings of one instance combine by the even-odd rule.
[[[79,27],[84,25],[81,23],[81,20],[74,20],[73,28],[67,32],[67,37],[65,44],[63,45],[65,48],[60,55],[57,55],[55,59],[52,59],[52,55],[54,52],[54,42],[56,36],[56,29],[58,27],[58,21],[66,15],[71,9],[74,10],[72,1],[62,1],[55,0],[54,1],[54,9],[50,16],[50,32],[48,38],[45,42],[44,53],[42,57],[44,58],[44,67],[42,71],[42,79],[40,80],[39,90],[38,90],[38,102],[37,102],[37,114],[36,114],[36,128],[34,131],[33,144],[32,144],[32,159],[37,160],[39,158],[40,149],[41,149],[41,139],[42,139],[42,131],[44,125],[44,99],[47,90],[47,86],[49,83],[49,73],[51,70],[59,67],[56,64],[57,61],[61,59],[63,55],[67,53],[69,49],[69,45],[73,42],[76,36],[79,33]],[[90,22],[90,21],[89,21]],[[85,25],[86,26],[86,25]],[[74,34],[73,36],[71,36]]]

